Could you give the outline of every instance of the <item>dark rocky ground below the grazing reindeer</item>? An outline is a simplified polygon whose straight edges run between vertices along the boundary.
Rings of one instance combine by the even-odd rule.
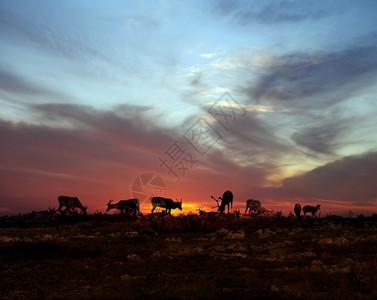
[[[1,221],[1,299],[377,299],[376,217]]]

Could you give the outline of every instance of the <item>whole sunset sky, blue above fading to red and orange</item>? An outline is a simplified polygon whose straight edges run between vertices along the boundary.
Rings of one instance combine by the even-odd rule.
[[[0,0],[0,215],[110,199],[377,212],[376,1]],[[179,211],[178,211],[179,212]],[[177,212],[176,212],[177,213]]]

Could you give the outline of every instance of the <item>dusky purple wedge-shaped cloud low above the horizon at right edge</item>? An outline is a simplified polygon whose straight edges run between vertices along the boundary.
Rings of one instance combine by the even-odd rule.
[[[266,188],[275,199],[335,201],[340,206],[374,205],[377,201],[377,152],[347,156]]]

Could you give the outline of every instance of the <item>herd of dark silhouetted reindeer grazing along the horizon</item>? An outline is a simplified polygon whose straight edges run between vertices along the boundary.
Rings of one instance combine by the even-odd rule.
[[[223,196],[219,196],[217,199],[214,196],[211,196],[213,200],[216,202],[216,206],[212,208],[217,208],[216,212],[204,212],[202,208],[199,208],[200,216],[205,215],[220,215],[223,216],[225,212],[225,208],[227,207],[227,214],[233,212],[233,193],[231,191],[225,191]],[[164,197],[151,197],[150,198],[152,210],[151,213],[153,214],[156,208],[165,209],[164,214],[170,215],[172,209],[179,209],[182,210],[182,199],[180,201],[173,201],[170,198]],[[62,215],[74,215],[74,214],[82,214],[86,215],[87,206],[82,205],[80,200],[77,197],[68,197],[68,196],[59,196],[58,197],[59,207],[58,212]],[[64,208],[64,209],[63,209]],[[306,216],[306,213],[311,213],[312,217],[317,217],[317,213],[320,210],[321,205],[311,206],[306,205],[301,209],[301,204],[296,203],[294,206],[294,213],[296,218],[301,217],[301,211]],[[113,200],[110,200],[107,203],[106,212],[115,209],[119,214],[124,215],[140,215],[140,203],[139,200],[136,198],[128,199],[128,200],[120,200],[117,203],[113,203]],[[55,212],[55,209],[49,209],[48,211],[43,211],[46,214],[52,214]],[[239,210],[234,211],[236,214],[239,215]],[[42,213],[42,212],[40,212]],[[246,200],[246,209],[245,215],[248,216],[268,216],[270,214],[274,214],[275,216],[281,216],[281,211],[274,212],[274,210],[268,210],[264,208],[259,200],[255,199],[248,199]],[[291,213],[290,215],[293,216]]]

